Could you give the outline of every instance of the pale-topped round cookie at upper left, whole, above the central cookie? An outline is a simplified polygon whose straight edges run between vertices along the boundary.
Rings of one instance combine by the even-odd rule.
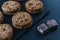
[[[16,1],[6,1],[2,5],[2,10],[5,14],[13,15],[21,10],[21,5]]]

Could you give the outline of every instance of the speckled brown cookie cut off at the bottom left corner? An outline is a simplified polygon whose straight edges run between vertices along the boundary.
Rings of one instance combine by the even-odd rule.
[[[0,24],[0,40],[11,40],[12,27],[9,24]]]

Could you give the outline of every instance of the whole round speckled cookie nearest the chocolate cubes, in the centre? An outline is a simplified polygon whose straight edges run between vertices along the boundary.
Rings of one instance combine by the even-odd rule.
[[[32,24],[32,17],[27,12],[18,12],[13,15],[12,24],[17,29],[28,28]]]

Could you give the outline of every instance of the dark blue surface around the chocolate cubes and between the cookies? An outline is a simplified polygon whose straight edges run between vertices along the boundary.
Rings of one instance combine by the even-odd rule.
[[[0,10],[1,10],[1,5],[2,3],[6,0],[0,0]],[[24,0],[25,1],[25,0]],[[60,24],[60,0],[42,0],[44,3],[44,9],[49,10],[50,14],[44,18],[42,21],[39,21],[36,23],[28,32],[26,32],[23,36],[18,37],[17,40],[60,40],[60,26],[58,26],[57,30],[54,32],[50,32],[45,36],[42,36],[39,32],[37,32],[36,27],[41,24],[42,22],[47,22],[49,19],[56,19],[58,24]],[[24,3],[22,4],[22,11],[25,11],[24,9]],[[44,12],[44,11],[43,11]],[[8,16],[4,14],[5,16],[5,21],[3,23],[8,23],[11,24],[11,16]],[[32,15],[34,18],[34,21],[36,18],[40,16],[40,14],[37,15]],[[10,20],[9,20],[10,19]],[[34,23],[34,22],[33,22]],[[20,32],[23,32],[24,30],[17,30],[13,28],[14,32],[14,37],[17,36]]]

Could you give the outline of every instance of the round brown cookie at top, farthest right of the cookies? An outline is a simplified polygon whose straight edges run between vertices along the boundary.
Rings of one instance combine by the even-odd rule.
[[[41,1],[27,1],[25,8],[29,13],[36,14],[43,10],[43,3]]]

